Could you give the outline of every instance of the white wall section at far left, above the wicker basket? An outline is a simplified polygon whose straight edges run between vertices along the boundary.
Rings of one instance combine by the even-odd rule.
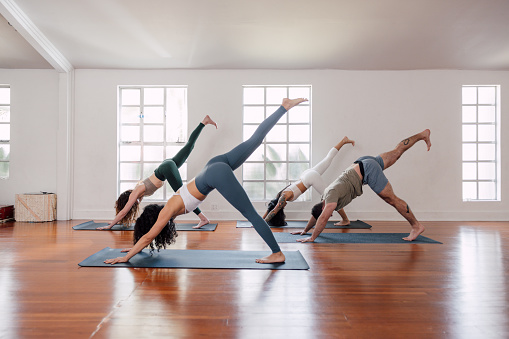
[[[56,192],[58,73],[0,69],[11,87],[9,179],[0,179],[0,205],[14,205],[17,193]]]

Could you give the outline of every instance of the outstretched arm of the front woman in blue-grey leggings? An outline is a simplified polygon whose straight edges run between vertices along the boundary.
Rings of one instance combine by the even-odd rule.
[[[180,201],[178,199],[180,199]],[[162,229],[164,228],[164,226],[166,226],[168,221],[170,221],[170,219],[177,214],[176,211],[180,210],[179,202],[182,203],[182,198],[178,196],[173,196],[172,198],[170,198],[170,200],[168,200],[168,202],[163,207],[161,212],[159,212],[159,216],[157,217],[157,221],[154,224],[154,226],[152,226],[152,228],[147,234],[145,234],[140,238],[140,240],[138,240],[138,242],[131,248],[131,250],[125,256],[118,257],[115,259],[107,259],[104,262],[106,264],[112,265],[119,262],[128,262],[129,259],[134,257],[139,252],[141,252],[157,237],[159,233],[161,233]]]

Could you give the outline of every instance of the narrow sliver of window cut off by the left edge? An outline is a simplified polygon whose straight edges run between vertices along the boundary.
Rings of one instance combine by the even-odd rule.
[[[0,85],[0,178],[9,178],[11,153],[11,88]]]

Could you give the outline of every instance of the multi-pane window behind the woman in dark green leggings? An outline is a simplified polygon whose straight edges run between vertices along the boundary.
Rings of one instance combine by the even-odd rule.
[[[184,146],[187,87],[119,87],[118,120],[118,190],[121,193],[151,176],[164,159],[174,156]],[[187,164],[179,171],[186,182]],[[146,200],[167,200],[173,190],[170,185],[164,187]]]

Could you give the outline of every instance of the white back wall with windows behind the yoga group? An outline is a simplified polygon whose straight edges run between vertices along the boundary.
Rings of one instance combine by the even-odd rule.
[[[326,172],[330,181],[358,156],[387,151],[402,139],[430,128],[430,152],[421,142],[387,170],[396,194],[421,220],[509,220],[505,157],[502,202],[465,203],[461,196],[461,85],[500,84],[502,102],[507,103],[508,75],[479,71],[77,70],[74,218],[113,217],[118,85],[189,86],[189,128],[205,114],[220,126],[218,131],[206,128],[202,132],[188,160],[188,175],[193,177],[212,155],[228,151],[242,140],[242,85],[311,84],[313,164],[344,135],[357,141],[355,148],[341,150]],[[507,107],[502,106],[502,123],[508,116]],[[503,150],[508,143],[505,133]],[[240,178],[241,170],[236,174]],[[313,200],[318,199],[314,193]],[[211,211],[212,202],[219,205],[219,211]],[[311,205],[289,204],[288,218],[307,218]],[[263,212],[263,203],[255,206]],[[212,219],[240,217],[217,192],[201,207]],[[403,220],[368,187],[346,210],[353,219]]]

